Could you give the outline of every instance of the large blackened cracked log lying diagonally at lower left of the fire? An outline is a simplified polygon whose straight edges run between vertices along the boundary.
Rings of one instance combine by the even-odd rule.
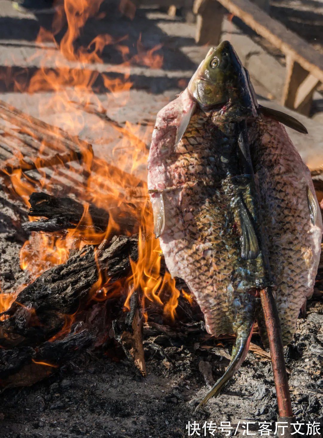
[[[95,289],[127,276],[129,258],[138,258],[137,244],[137,236],[119,236],[96,249],[88,245],[67,263],[44,272],[3,313],[9,318],[0,321],[0,345],[35,346],[50,339],[63,327],[64,315],[85,308]]]

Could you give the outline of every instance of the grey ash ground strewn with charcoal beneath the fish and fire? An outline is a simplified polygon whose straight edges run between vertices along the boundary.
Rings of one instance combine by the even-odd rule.
[[[17,206],[13,213],[7,197],[1,199],[1,284],[9,291],[26,280],[18,263],[23,239],[19,220],[24,212]],[[315,295],[308,303],[306,318],[298,320],[294,341],[286,348],[293,409],[297,420],[305,423],[323,422],[323,302],[319,290]],[[151,329],[144,332],[147,378],[140,377],[114,343],[86,351],[32,387],[2,392],[0,436],[168,438],[188,436],[188,421],[202,426],[205,421],[236,425],[239,420],[241,424],[276,420],[268,359],[249,352],[220,396],[195,414],[207,389],[200,362],[207,363],[204,368],[212,368],[216,380],[229,363],[231,343],[203,339],[203,329],[184,338],[161,333],[152,336]],[[261,345],[256,335],[252,342]],[[222,345],[217,346],[219,343]],[[216,432],[215,436],[224,434]]]

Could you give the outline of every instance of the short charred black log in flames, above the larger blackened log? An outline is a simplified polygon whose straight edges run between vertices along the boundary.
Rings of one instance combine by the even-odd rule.
[[[55,198],[46,193],[32,193],[29,198],[30,209],[29,216],[44,216],[47,219],[41,219],[35,222],[26,222],[22,224],[25,231],[42,231],[53,233],[67,230],[68,228],[85,229],[86,223],[80,223],[84,214],[84,205],[71,198]],[[89,205],[88,211],[94,228],[98,231],[106,230],[109,223],[110,215],[120,226],[121,232],[132,231],[135,226],[135,219],[119,208],[111,208],[109,211],[98,208],[95,205]]]

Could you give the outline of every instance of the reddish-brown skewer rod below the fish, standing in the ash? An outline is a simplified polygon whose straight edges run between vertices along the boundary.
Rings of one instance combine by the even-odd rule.
[[[269,339],[273,380],[275,382],[278,413],[280,417],[292,417],[291,396],[289,393],[287,371],[284,359],[283,342],[281,338],[280,321],[276,301],[271,287],[260,291],[261,305],[265,316]]]

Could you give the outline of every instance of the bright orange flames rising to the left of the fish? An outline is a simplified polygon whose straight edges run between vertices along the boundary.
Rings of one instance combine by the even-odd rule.
[[[146,145],[149,144],[153,127],[148,126],[143,129],[140,125],[129,122],[124,126],[109,122],[109,118],[105,119],[102,103],[93,92],[96,82],[101,81],[106,89],[105,106],[117,112],[129,99],[132,85],[129,79],[131,65],[160,68],[163,58],[158,53],[160,46],[146,50],[141,37],[137,43],[138,53],[132,57],[128,46],[123,44],[127,35],[119,39],[107,34],[97,35],[86,46],[79,46],[77,42],[85,23],[89,19],[99,19],[102,16],[100,13],[102,2],[103,0],[64,0],[64,5],[54,17],[52,31],[40,29],[37,43],[42,48],[42,53],[45,52],[45,56],[42,55],[41,67],[32,76],[28,85],[21,80],[21,77],[14,78],[17,90],[29,93],[39,91],[52,93],[51,97],[48,98],[47,95],[46,99],[39,94],[39,112],[55,114],[56,125],[69,134],[78,135],[85,127],[84,110],[90,112],[93,107],[99,108],[102,117],[98,117],[98,122],[93,124],[92,130],[103,131],[106,123],[109,123],[109,128],[114,132],[111,141],[114,141],[115,145],[112,151],[113,164],[106,159],[93,156],[91,151],[85,150],[82,144],[79,145],[82,151],[82,171],[88,173],[81,194],[84,205],[82,219],[76,228],[67,230],[62,236],[32,233],[21,249],[21,268],[31,274],[31,279],[35,279],[46,269],[66,262],[71,249],[82,249],[85,244],[99,245],[104,239],[111,238],[120,231],[114,215],[110,214],[106,230],[98,232],[92,224],[89,205],[105,209],[107,205],[122,208],[139,223],[139,258],[138,261],[131,261],[132,272],[124,283],[116,282],[111,285],[99,274],[98,280],[92,286],[92,298],[100,301],[124,294],[124,307],[127,309],[131,293],[138,290],[142,294],[141,304],[146,318],[146,307],[154,304],[161,306],[164,315],[174,320],[180,291],[176,289],[175,280],[171,279],[168,273],[160,274],[160,246],[153,236],[153,213],[147,194]],[[131,4],[131,2],[126,3]],[[58,42],[56,37],[58,34],[61,35],[66,24],[67,30]],[[103,63],[101,55],[107,45],[113,45],[119,50],[123,59],[122,64],[118,66],[121,74],[117,78],[111,78],[108,73],[100,73],[99,68],[93,67],[93,64],[97,66]],[[10,74],[11,71],[8,71],[8,77]],[[59,154],[64,153],[64,149],[65,153],[68,152],[65,146],[60,144],[59,139],[53,148]],[[40,174],[39,181],[28,177],[28,173],[21,169],[7,170],[12,190],[27,206],[29,206],[28,198],[34,191],[55,193],[53,181],[60,167],[60,163],[53,166],[53,172],[49,177],[40,169],[39,160],[35,158],[34,163]],[[73,173],[77,172],[72,166],[69,168],[71,180]],[[5,301],[5,297],[3,299]],[[1,302],[0,305],[1,308],[8,307],[7,302]],[[75,314],[64,315],[64,318],[65,323],[59,336],[69,332]]]

